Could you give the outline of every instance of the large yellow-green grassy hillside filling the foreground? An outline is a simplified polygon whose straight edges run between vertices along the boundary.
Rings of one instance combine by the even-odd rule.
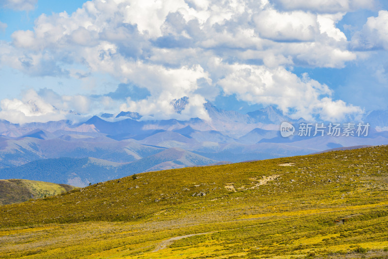
[[[387,258],[388,147],[193,167],[0,207],[0,258]]]

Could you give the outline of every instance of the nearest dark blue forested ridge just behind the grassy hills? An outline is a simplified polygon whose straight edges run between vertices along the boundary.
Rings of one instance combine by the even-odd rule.
[[[134,173],[207,165],[215,162],[217,161],[186,150],[172,148],[131,163],[115,163],[93,157],[35,160],[21,166],[0,169],[0,179],[17,177],[84,187],[89,183],[103,182]]]

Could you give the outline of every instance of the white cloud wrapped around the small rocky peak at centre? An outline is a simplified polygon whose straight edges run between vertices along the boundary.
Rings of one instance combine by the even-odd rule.
[[[206,99],[195,93],[199,88],[198,80],[203,79],[208,84],[211,83],[209,74],[202,67],[165,69],[162,66],[137,64],[137,66],[133,67],[123,67],[123,73],[128,75],[129,78],[135,78],[133,76],[135,74],[141,75],[132,80],[132,82],[139,86],[147,86],[151,96],[140,101],[132,101],[129,98],[127,104],[120,106],[121,110],[139,112],[145,115],[144,119],[177,118],[187,120],[195,117],[205,120],[209,119],[203,106],[207,102]],[[184,96],[189,97],[189,104],[181,114],[177,114],[170,102],[173,99],[179,99]],[[147,117],[147,115],[151,114],[152,117]]]

